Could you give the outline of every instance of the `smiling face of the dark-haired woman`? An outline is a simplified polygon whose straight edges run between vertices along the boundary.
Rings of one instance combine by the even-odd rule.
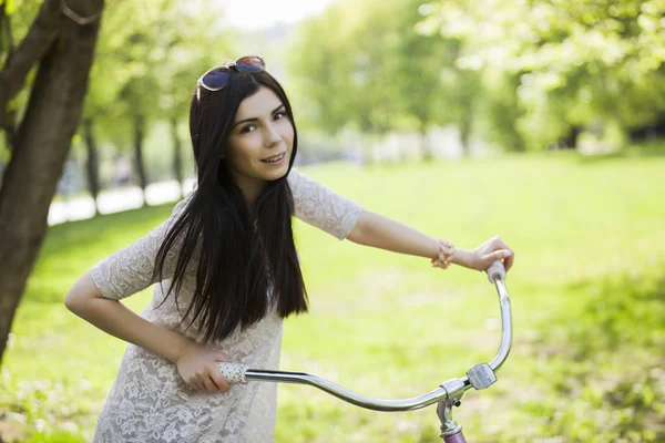
[[[260,86],[241,102],[228,136],[226,162],[235,184],[246,195],[256,197],[266,182],[286,175],[293,147],[294,126],[273,90]]]

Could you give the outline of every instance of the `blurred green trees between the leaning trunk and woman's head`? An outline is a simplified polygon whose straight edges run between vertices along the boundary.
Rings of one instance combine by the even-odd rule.
[[[178,124],[187,115],[196,78],[214,56],[231,52],[231,38],[215,27],[218,14],[213,11],[211,0],[150,0],[140,7],[113,3],[105,13],[85,113],[100,138],[113,141],[116,153],[132,146],[143,189],[150,182],[144,141],[158,121],[172,126],[173,175],[182,183]]]

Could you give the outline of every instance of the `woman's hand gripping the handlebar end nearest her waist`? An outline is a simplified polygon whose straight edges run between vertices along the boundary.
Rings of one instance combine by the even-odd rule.
[[[231,387],[217,369],[226,357],[214,349],[191,342],[176,361],[177,372],[190,389],[208,392],[227,392]]]

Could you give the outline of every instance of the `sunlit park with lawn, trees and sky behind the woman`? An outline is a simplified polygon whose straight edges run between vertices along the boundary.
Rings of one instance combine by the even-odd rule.
[[[63,298],[192,190],[195,81],[255,53],[289,93],[301,172],[459,247],[499,235],[515,250],[513,350],[498,383],[454,411],[469,441],[665,441],[664,1],[83,3],[65,4],[104,9],[76,131],[49,163],[58,179],[37,217],[45,236],[31,245],[13,321],[0,303],[11,322],[0,441],[90,441],[124,343]],[[0,1],[0,99],[30,30],[49,17],[53,29],[94,25],[49,16],[54,6]],[[37,59],[0,100],[3,266],[24,230],[24,206],[7,202],[17,171],[33,179],[17,166],[30,146],[20,128],[47,63]],[[282,369],[410,398],[493,357],[499,308],[479,272],[432,269],[300,222],[296,235],[311,303],[286,321]],[[0,301],[18,285],[10,278],[20,276],[2,274]],[[140,311],[150,297],[127,305]],[[313,388],[278,392],[279,442],[440,441],[433,408],[388,414]]]

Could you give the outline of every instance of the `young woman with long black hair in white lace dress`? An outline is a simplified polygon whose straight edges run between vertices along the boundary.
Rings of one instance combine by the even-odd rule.
[[[229,388],[216,362],[276,369],[282,321],[307,310],[291,216],[338,239],[483,270],[510,269],[493,238],[454,248],[361,208],[293,168],[286,94],[257,56],[198,79],[190,110],[196,190],[145,237],[85,274],[66,307],[129,342],[94,442],[269,442],[273,383]],[[152,284],[142,316],[119,300]]]

